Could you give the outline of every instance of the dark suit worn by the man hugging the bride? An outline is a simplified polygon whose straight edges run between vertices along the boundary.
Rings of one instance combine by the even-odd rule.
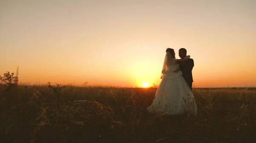
[[[194,60],[188,59],[186,62],[180,63],[179,67],[182,72],[183,78],[186,80],[186,82],[189,84],[190,89],[192,90],[192,69],[194,67]]]

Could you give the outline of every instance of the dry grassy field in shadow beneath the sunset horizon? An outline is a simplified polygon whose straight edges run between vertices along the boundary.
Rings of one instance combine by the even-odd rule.
[[[196,117],[148,114],[156,90],[0,85],[0,142],[255,142],[256,90],[193,89]]]

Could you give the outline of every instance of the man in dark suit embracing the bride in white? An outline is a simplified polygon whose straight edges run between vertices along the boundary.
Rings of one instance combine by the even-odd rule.
[[[180,48],[179,56],[181,59],[186,57],[185,48]],[[192,82],[193,82],[192,69],[194,67],[194,60],[189,58],[186,62],[180,63],[179,67],[182,72],[183,78],[186,80],[186,82],[189,84],[190,89],[192,90]]]

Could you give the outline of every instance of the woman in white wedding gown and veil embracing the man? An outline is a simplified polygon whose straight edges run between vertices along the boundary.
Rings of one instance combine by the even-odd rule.
[[[197,114],[197,105],[189,85],[186,83],[179,69],[179,63],[184,59],[175,59],[175,52],[171,48],[166,49],[160,85],[155,98],[147,111],[150,113],[167,115]]]

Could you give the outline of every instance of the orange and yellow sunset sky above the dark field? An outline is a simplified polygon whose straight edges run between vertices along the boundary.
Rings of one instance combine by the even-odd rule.
[[[255,0],[0,0],[0,75],[21,83],[158,85],[166,48],[193,87],[256,87]]]

